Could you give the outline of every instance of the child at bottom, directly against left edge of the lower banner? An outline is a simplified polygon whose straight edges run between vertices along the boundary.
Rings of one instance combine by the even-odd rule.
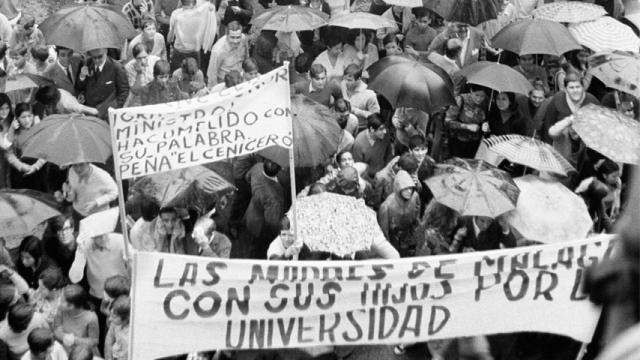
[[[104,344],[105,360],[127,360],[129,348],[129,315],[131,300],[120,296],[111,306],[111,326]]]

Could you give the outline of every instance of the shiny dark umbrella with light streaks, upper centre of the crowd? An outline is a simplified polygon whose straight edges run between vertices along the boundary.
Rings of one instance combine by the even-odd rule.
[[[431,113],[455,101],[451,78],[435,65],[387,56],[367,71],[369,89],[382,94],[394,108],[410,107]]]

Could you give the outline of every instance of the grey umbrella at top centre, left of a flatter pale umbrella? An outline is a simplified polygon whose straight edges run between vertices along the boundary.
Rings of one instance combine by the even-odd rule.
[[[306,6],[274,6],[251,19],[254,28],[276,31],[313,30],[327,25],[329,15]]]

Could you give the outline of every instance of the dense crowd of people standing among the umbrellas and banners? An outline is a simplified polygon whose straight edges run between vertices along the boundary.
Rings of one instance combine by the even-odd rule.
[[[500,16],[524,18],[545,2],[550,1],[506,1]],[[332,17],[369,11],[395,22],[397,29],[322,27],[287,33],[250,25],[255,13],[274,5],[311,7]],[[583,196],[593,233],[612,231],[625,207],[632,166],[587,148],[572,129],[570,115],[584,105],[601,104],[637,120],[639,102],[606,88],[588,72],[588,48],[560,57],[517,56],[493,48],[481,30],[466,23],[383,0],[364,5],[358,0],[129,0],[122,12],[137,31],[122,49],[81,54],[51,46],[27,13],[0,32],[2,76],[34,74],[50,80],[38,89],[0,93],[0,188],[50,194],[62,213],[32,234],[2,238],[0,358],[128,359],[130,264],[123,257],[123,230],[90,238],[79,234],[82,219],[115,206],[113,166],[79,163],[60,168],[22,156],[20,133],[54,114],[82,113],[107,121],[109,107],[202,96],[289,62],[291,93],[333,109],[342,129],[332,158],[296,170],[296,191],[300,196],[334,192],[363,199],[377,212],[388,241],[377,251],[363,249],[347,257],[305,248],[293,239],[291,219],[285,215],[292,201],[288,169],[248,155],[227,162],[237,190],[228,204],[225,198],[207,211],[163,206],[147,194],[125,194],[131,224],[124,231],[130,232],[131,244],[126,246],[132,251],[335,260],[528,245],[531,242],[518,238],[504,218],[461,216],[435,201],[425,185],[436,164],[451,157],[474,158],[482,139],[490,135],[519,134],[553,145],[575,172],[557,177],[508,161],[500,168],[514,177],[524,171],[552,176]],[[4,23],[8,19],[0,15]],[[393,108],[368,87],[367,69],[389,56],[441,68],[453,79],[455,103],[431,113]],[[526,96],[465,84],[459,71],[479,60],[512,66],[533,90]],[[210,216],[214,208],[218,214]],[[534,340],[553,346],[523,345]],[[577,352],[576,343],[553,336],[532,340],[531,334],[514,335],[509,346],[505,341],[504,336],[450,339],[430,342],[428,350],[432,359],[515,359],[526,351],[533,352],[528,358],[565,359]],[[322,358],[343,359],[352,351],[336,348]],[[399,356],[405,351],[404,345],[394,348]]]

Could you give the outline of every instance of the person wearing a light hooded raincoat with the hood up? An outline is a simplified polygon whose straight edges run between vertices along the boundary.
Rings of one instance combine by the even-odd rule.
[[[400,256],[412,256],[415,242],[412,233],[418,225],[420,198],[409,173],[398,171],[393,182],[394,193],[389,195],[378,210],[378,223],[389,242]]]

